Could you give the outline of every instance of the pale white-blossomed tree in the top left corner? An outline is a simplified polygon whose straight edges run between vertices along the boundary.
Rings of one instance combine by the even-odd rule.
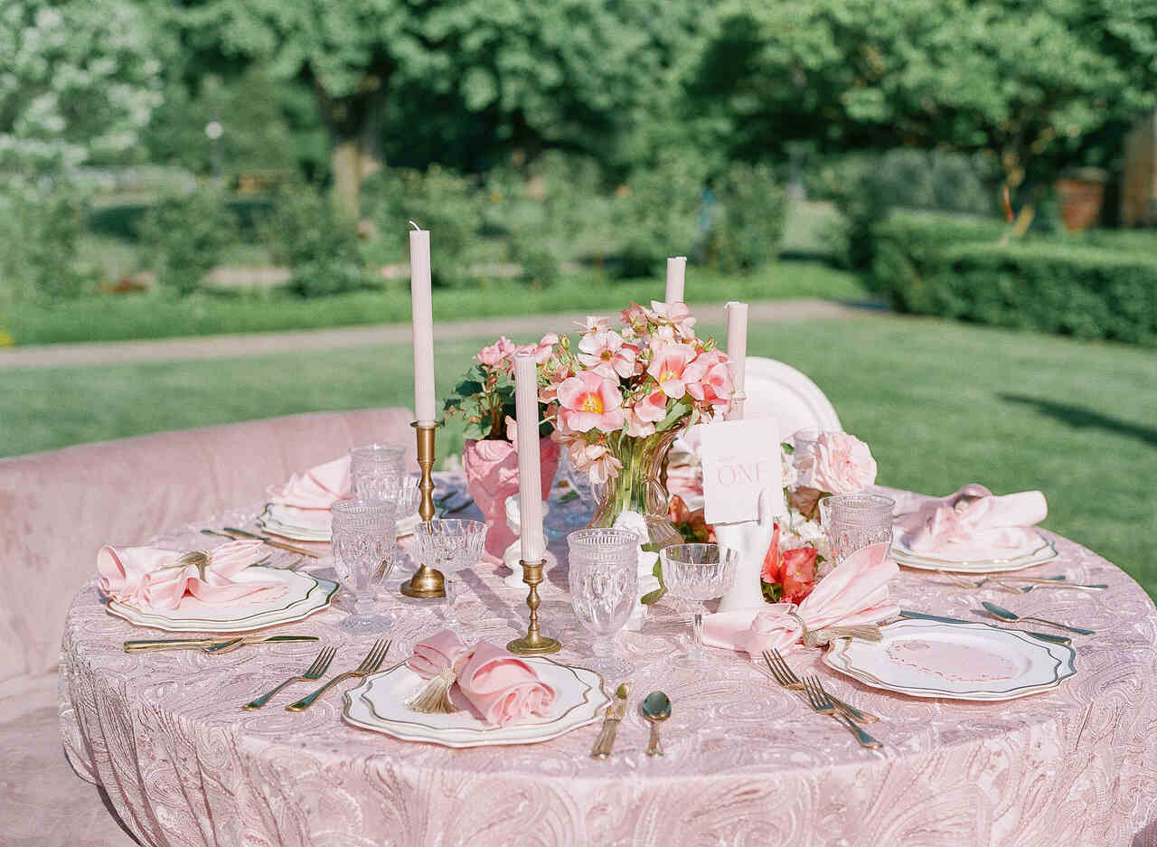
[[[126,155],[161,102],[154,32],[127,0],[0,0],[0,167]]]

